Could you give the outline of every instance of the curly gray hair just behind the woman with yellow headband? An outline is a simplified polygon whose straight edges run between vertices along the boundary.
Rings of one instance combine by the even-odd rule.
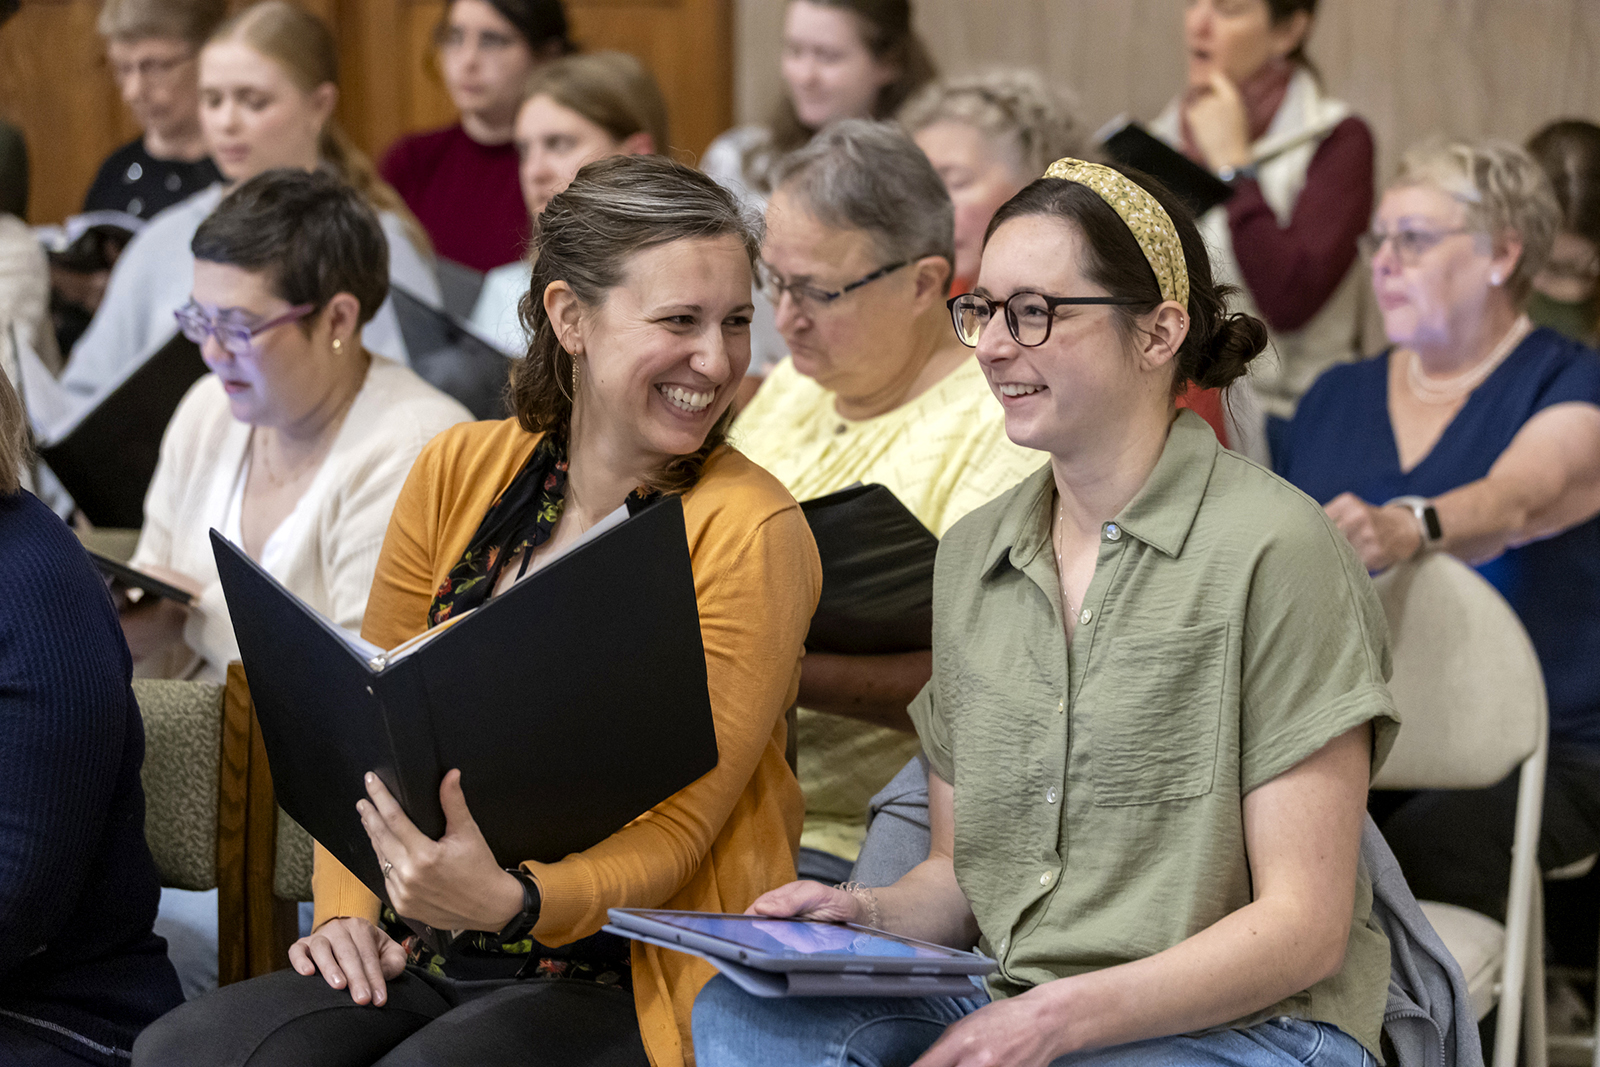
[[[1077,102],[1037,70],[990,70],[930,85],[901,110],[901,125],[914,134],[941,122],[971,126],[1010,152],[1022,184],[1086,150]]]

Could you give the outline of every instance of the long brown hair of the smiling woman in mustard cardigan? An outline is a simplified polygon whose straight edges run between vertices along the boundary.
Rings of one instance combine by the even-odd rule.
[[[533,237],[533,280],[518,310],[528,354],[512,368],[510,403],[530,434],[571,435],[573,355],[562,347],[544,312],[544,291],[565,282],[589,307],[605,304],[622,283],[629,261],[678,240],[738,237],[755,269],[760,238],[733,195],[706,174],[664,155],[614,155],[578,171],[573,184],[550,197]],[[582,389],[582,384],[578,386]],[[733,406],[698,451],[674,456],[645,478],[659,493],[685,493],[706,461],[728,438]]]

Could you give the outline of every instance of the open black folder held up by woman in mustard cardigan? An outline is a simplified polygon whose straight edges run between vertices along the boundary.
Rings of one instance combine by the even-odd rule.
[[[374,771],[432,838],[451,768],[501,865],[610,837],[717,766],[683,504],[666,498],[483,606],[379,651],[211,531],[278,803],[387,901]]]

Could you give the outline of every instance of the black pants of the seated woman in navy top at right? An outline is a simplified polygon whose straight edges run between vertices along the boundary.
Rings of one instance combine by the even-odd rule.
[[[1490,789],[1373,793],[1373,817],[1419,901],[1506,921],[1518,773]],[[1600,853],[1600,752],[1552,747],[1544,777],[1539,867]]]

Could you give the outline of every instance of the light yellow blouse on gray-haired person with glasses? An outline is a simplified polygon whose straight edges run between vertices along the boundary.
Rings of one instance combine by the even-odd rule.
[[[798,501],[875,482],[941,536],[1046,461],[1005,435],[1005,413],[976,358],[874,419],[840,418],[834,400],[786,358],[739,413],[731,442]],[[867,801],[917,753],[917,737],[806,709],[797,737],[806,808],[800,843],[854,859]]]

